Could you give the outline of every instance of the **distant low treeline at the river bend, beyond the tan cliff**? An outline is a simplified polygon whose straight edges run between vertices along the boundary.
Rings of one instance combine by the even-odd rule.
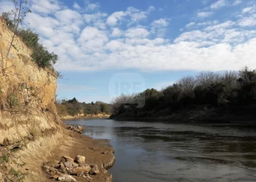
[[[101,101],[91,103],[80,103],[76,98],[70,100],[57,100],[56,108],[60,116],[65,115],[97,115],[97,114],[110,114],[112,106]]]

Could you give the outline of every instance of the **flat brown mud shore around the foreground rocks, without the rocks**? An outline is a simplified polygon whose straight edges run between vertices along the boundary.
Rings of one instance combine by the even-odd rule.
[[[73,176],[77,181],[111,182],[112,175],[107,173],[107,169],[114,165],[114,148],[110,145],[110,141],[95,140],[64,128],[65,126],[63,125],[65,142],[63,142],[58,149],[54,149],[47,160],[59,160],[63,156],[71,158],[75,158],[78,155],[84,156],[86,158],[86,164],[97,164],[100,174],[90,176],[92,179]],[[50,178],[50,176],[48,176],[48,178]]]

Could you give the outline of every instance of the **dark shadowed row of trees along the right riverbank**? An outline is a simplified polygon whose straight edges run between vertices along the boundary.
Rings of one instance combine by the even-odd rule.
[[[185,108],[236,108],[256,106],[256,71],[247,67],[240,72],[201,72],[185,76],[161,91],[146,89],[134,95],[122,95],[112,101],[113,114],[176,113]],[[143,107],[142,107],[143,106]]]

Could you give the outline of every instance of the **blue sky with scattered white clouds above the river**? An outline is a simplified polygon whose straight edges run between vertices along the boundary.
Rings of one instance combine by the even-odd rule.
[[[256,0],[29,0],[58,98],[110,102],[201,71],[255,68]],[[0,13],[14,8],[0,0]]]

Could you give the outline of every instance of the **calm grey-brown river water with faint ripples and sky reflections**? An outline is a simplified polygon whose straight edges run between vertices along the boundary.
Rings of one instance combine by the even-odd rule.
[[[109,139],[114,182],[256,181],[256,126],[73,120]]]

